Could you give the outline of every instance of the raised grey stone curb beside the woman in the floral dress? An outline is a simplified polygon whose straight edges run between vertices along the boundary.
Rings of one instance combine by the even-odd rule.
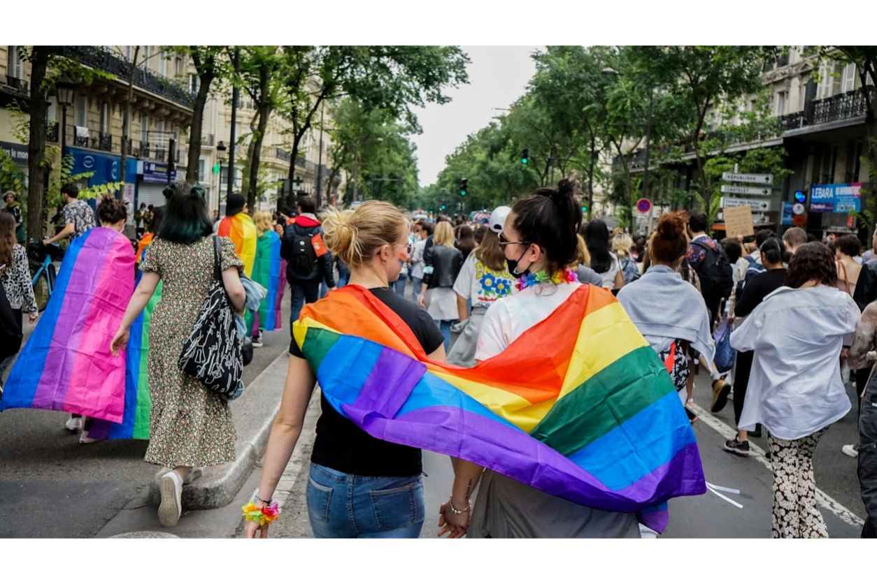
[[[288,362],[288,354],[278,355],[247,386],[244,395],[232,402],[232,419],[238,434],[235,460],[204,468],[200,479],[183,487],[183,509],[219,509],[232,503],[267,447],[271,426],[280,410]],[[148,499],[153,505],[160,503],[159,482],[170,470],[162,468],[149,485]]]

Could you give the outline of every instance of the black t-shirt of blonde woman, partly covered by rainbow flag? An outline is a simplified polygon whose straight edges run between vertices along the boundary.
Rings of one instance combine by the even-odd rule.
[[[369,292],[411,328],[426,355],[445,342],[435,321],[420,306],[389,288],[373,288]],[[289,355],[303,357],[295,338],[289,343]],[[317,440],[310,454],[311,462],[348,475],[414,476],[423,471],[419,448],[373,438],[336,412],[324,395],[320,396],[320,406],[323,412],[317,420]]]

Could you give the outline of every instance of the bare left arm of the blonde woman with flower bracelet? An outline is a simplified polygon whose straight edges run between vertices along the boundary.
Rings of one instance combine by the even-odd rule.
[[[289,355],[289,368],[287,369],[286,383],[283,385],[280,410],[271,426],[271,434],[268,437],[268,446],[265,451],[265,463],[259,482],[259,496],[265,501],[270,501],[274,497],[277,483],[280,482],[283,470],[289,464],[289,457],[296,449],[296,442],[302,435],[304,415],[308,412],[310,396],[316,384],[317,378],[308,362],[300,357]],[[268,526],[259,528],[252,521],[246,522],[246,538],[253,539],[257,529],[261,530],[261,538],[267,539]]]

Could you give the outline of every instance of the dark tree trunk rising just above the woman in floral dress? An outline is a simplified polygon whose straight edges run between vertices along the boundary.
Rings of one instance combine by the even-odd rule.
[[[192,125],[189,128],[189,162],[186,166],[186,182],[196,184],[198,161],[201,159],[201,135],[204,124],[204,106],[210,96],[213,81],[230,76],[225,49],[228,45],[164,45],[166,50],[189,55],[195,65],[198,87],[192,103]]]

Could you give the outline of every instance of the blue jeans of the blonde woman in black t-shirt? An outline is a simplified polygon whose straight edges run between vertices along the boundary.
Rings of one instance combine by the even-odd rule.
[[[347,475],[311,463],[307,498],[316,539],[417,539],[424,525],[419,475]]]

